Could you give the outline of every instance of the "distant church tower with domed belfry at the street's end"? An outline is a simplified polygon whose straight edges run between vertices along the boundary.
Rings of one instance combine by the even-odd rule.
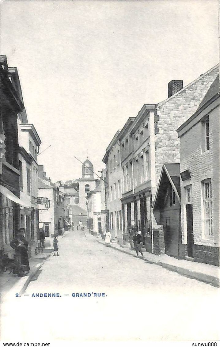
[[[87,210],[86,196],[89,192],[95,189],[95,178],[93,173],[93,164],[87,159],[82,165],[82,178],[78,179],[79,182],[79,206]]]

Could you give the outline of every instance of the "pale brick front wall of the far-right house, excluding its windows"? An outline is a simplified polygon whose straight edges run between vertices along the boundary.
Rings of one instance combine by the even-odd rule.
[[[209,115],[209,150],[204,150],[204,117]],[[192,117],[191,117],[192,118]],[[181,224],[182,242],[187,245],[186,187],[192,186],[193,205],[193,257],[196,261],[219,264],[219,182],[220,182],[220,125],[219,97],[195,117],[178,129],[180,136],[180,172],[189,170],[191,178],[181,183]],[[205,227],[204,186],[203,181],[210,179],[212,186],[212,228],[208,235]]]

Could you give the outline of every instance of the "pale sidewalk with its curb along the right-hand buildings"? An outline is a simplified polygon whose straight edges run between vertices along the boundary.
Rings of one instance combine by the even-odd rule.
[[[100,238],[96,240],[103,245],[105,244],[104,240]],[[118,244],[111,244],[110,247],[119,252],[136,256],[135,251],[131,251],[125,245],[124,247],[121,247]],[[163,268],[178,272],[181,275],[212,284],[215,287],[219,287],[220,269],[217,266],[191,262],[185,259],[176,259],[167,254],[155,255],[148,252],[143,252],[143,254],[143,261],[147,263],[163,266]]]

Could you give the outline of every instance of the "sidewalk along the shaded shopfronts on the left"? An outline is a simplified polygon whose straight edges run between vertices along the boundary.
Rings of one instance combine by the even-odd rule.
[[[63,238],[66,236],[68,231],[65,231],[63,235],[59,235],[58,238]],[[52,244],[52,239],[51,242]],[[41,266],[45,260],[52,254],[53,249],[50,247],[44,248],[43,254],[35,254],[34,249],[37,246],[37,242],[31,247],[31,258],[29,258],[30,272],[28,276],[18,277],[14,274],[9,273],[9,271],[0,273],[0,288],[1,288],[1,298],[5,296],[12,288],[16,288],[16,293],[22,295],[27,288],[28,284],[34,277],[37,271],[40,270]],[[13,289],[12,289],[13,290]]]

